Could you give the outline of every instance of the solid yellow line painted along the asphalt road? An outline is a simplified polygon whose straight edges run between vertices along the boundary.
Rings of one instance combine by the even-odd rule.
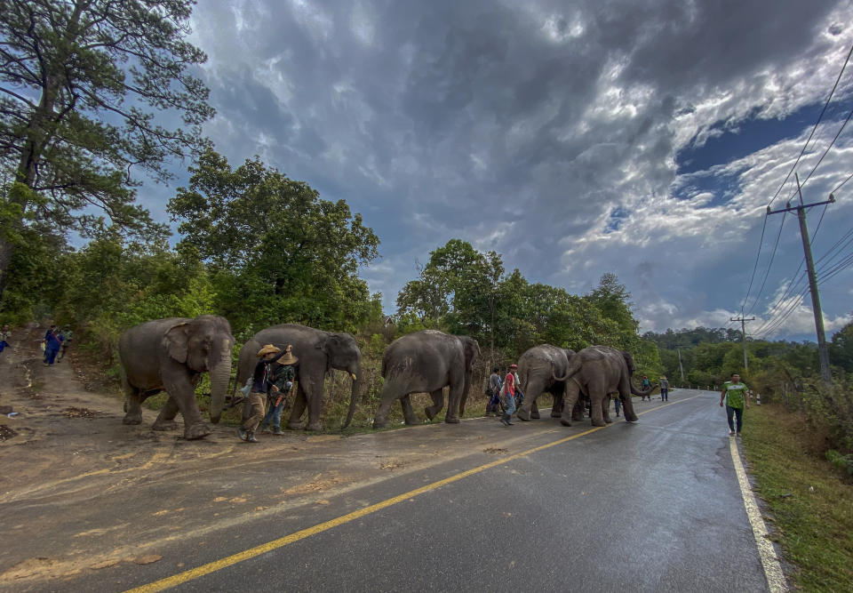
[[[673,402],[672,404],[666,405],[680,404],[683,401],[688,401],[689,399],[694,399],[696,397],[699,396],[689,397],[688,399],[682,399],[677,402]],[[660,405],[652,410],[646,410],[645,412],[642,412],[637,415],[654,412],[655,410],[659,410],[662,407],[666,407],[666,405]],[[334,519],[331,519],[330,521],[326,521],[325,523],[314,525],[312,527],[307,527],[307,529],[291,533],[290,535],[285,535],[284,537],[278,538],[277,540],[267,541],[267,543],[255,546],[254,548],[245,549],[242,552],[238,552],[232,556],[220,558],[219,560],[214,560],[213,562],[208,563],[206,565],[198,566],[183,573],[173,574],[170,577],[161,579],[160,581],[154,581],[152,583],[142,585],[135,589],[128,589],[126,593],[155,593],[155,591],[162,591],[164,589],[170,589],[171,587],[177,587],[178,585],[187,581],[193,581],[195,579],[203,577],[206,574],[215,573],[217,571],[222,570],[223,568],[227,568],[228,566],[241,563],[245,560],[250,560],[254,557],[259,557],[261,554],[266,554],[267,552],[271,552],[275,549],[283,548],[284,546],[287,546],[299,540],[304,540],[305,538],[310,537],[312,535],[316,535],[317,533],[323,533],[324,531],[328,531],[333,527],[337,527],[339,525],[344,525],[355,521],[355,519],[366,517],[379,510],[387,509],[388,507],[394,506],[399,502],[407,501],[411,498],[414,498],[415,496],[419,496],[420,494],[428,493],[437,488],[441,488],[444,485],[452,484],[453,482],[458,482],[458,480],[464,479],[469,476],[474,476],[474,474],[479,474],[480,472],[485,471],[486,469],[495,468],[498,465],[502,465],[508,461],[514,461],[516,459],[526,457],[531,453],[537,453],[539,451],[550,449],[551,447],[554,447],[556,445],[568,443],[570,440],[573,440],[575,438],[586,437],[586,435],[592,434],[597,430],[610,428],[610,426],[612,425],[609,424],[607,426],[599,426],[595,427],[594,429],[588,429],[584,432],[579,432],[577,435],[561,438],[554,441],[553,443],[547,443],[546,445],[539,445],[538,447],[528,449],[527,451],[522,451],[522,453],[515,453],[514,455],[499,459],[498,461],[490,461],[489,463],[486,463],[479,467],[467,469],[466,471],[455,474],[453,476],[445,477],[444,479],[438,480],[437,482],[433,482],[432,484],[427,484],[425,486],[421,486],[420,488],[415,488],[414,490],[410,490],[409,492],[400,494],[398,496],[395,496],[394,498],[389,498],[385,501],[380,501],[376,504],[371,504],[369,507],[364,507],[363,509],[354,510],[353,512],[348,513],[347,515],[336,517]]]

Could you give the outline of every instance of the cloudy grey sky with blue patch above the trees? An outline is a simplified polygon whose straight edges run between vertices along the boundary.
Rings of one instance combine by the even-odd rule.
[[[743,314],[754,337],[815,340],[806,284],[786,292],[796,215],[766,212],[796,192],[849,2],[243,0],[197,4],[192,27],[204,132],[232,165],[257,155],[361,212],[387,313],[459,238],[576,294],[615,273],[641,332]],[[853,173],[853,124],[827,151],[851,108],[853,64],[794,168],[807,204]],[[167,220],[186,179],[140,201]],[[828,336],[853,310],[853,180],[835,197],[808,209]]]

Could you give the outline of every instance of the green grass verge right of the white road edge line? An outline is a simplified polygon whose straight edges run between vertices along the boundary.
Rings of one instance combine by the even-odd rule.
[[[803,591],[853,589],[853,483],[826,461],[825,432],[781,406],[752,406],[743,445],[789,578]]]

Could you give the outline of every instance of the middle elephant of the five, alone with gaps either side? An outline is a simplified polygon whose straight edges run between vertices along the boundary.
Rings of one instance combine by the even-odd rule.
[[[403,406],[406,424],[418,424],[411,409],[410,394],[429,393],[433,405],[426,406],[426,418],[432,420],[444,407],[444,387],[450,386],[445,422],[456,424],[465,413],[471,388],[474,360],[480,356],[480,344],[468,336],[456,336],[437,330],[422,330],[397,338],[382,357],[385,386],[373,428],[385,428],[388,412],[395,399]]]

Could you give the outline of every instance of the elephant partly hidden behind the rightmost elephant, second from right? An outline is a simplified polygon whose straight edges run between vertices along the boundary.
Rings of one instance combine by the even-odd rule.
[[[555,381],[554,373],[563,374],[569,368],[569,358],[575,355],[571,349],[562,349],[551,344],[541,344],[527,350],[518,359],[518,378],[521,382],[524,401],[516,415],[519,420],[530,421],[539,417],[537,398],[543,393],[554,396],[551,417],[562,416],[562,396],[565,381]],[[580,406],[578,404],[578,409]],[[580,412],[583,414],[583,411]]]

